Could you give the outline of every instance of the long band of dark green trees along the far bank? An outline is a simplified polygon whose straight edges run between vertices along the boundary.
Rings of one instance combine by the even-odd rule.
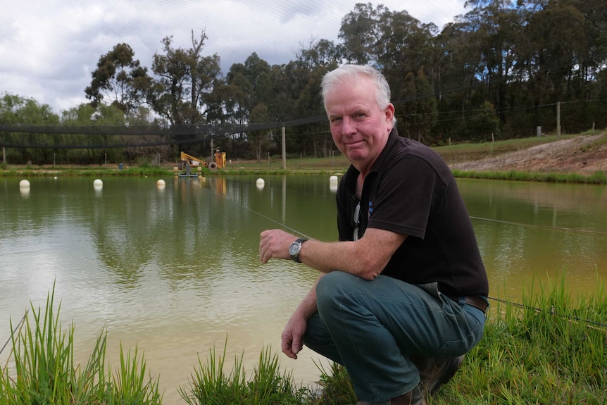
[[[266,151],[280,154],[277,123],[288,123],[288,154],[327,157],[334,145],[320,81],[343,63],[381,70],[401,133],[432,146],[533,136],[537,127],[543,133],[607,127],[605,1],[470,0],[464,11],[439,30],[405,10],[358,3],[342,18],[339,42],[311,39],[294,60],[274,66],[253,52],[225,76],[220,56],[204,54],[204,30],[192,31],[187,48],[176,47],[172,36],[163,38],[149,70],[129,44],[119,43],[92,72],[85,89],[90,105],[70,108],[61,124],[104,121],[142,127],[138,135],[24,130],[0,132],[0,146],[10,146],[7,159],[20,164],[90,164],[102,156],[161,163],[174,161],[180,150],[206,156],[211,149],[260,160]],[[60,124],[35,101],[28,108],[25,100],[15,101],[6,113],[5,97],[0,125]],[[155,128],[175,133],[159,135]]]

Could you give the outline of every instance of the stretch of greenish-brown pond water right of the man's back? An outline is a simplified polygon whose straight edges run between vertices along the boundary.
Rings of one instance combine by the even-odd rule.
[[[594,290],[607,270],[607,189],[603,186],[458,180],[477,233],[492,292],[520,297],[534,276],[565,275]],[[505,290],[505,291],[504,291]]]

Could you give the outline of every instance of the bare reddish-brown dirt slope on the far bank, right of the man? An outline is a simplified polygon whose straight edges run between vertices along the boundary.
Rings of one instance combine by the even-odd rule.
[[[580,135],[541,144],[522,151],[467,163],[455,163],[452,169],[475,171],[519,170],[539,173],[578,173],[592,175],[607,172],[607,142],[601,135]]]

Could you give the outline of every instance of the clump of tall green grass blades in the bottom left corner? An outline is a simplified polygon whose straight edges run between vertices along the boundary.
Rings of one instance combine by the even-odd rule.
[[[145,377],[145,362],[137,350],[125,355],[120,347],[120,369],[106,364],[107,332],[96,339],[84,367],[74,361],[74,330],[61,328],[54,293],[46,298],[44,313],[32,306],[17,330],[11,321],[11,354],[0,368],[0,405],[25,404],[146,404],[162,403],[158,381]]]

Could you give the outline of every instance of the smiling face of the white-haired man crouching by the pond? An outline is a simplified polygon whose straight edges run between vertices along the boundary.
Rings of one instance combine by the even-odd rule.
[[[337,149],[358,170],[370,170],[392,130],[394,106],[380,109],[370,79],[338,85],[325,97],[331,135]]]

